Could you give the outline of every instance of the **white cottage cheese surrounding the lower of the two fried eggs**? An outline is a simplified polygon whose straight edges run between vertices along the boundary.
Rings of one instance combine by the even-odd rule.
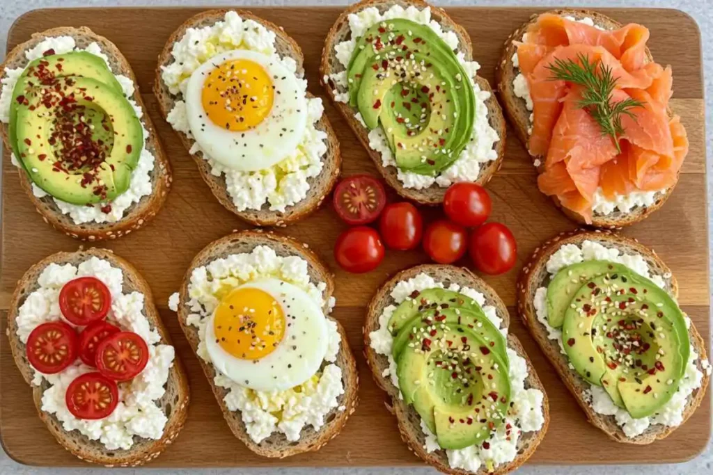
[[[331,310],[334,298],[324,300],[324,282],[316,285],[309,280],[307,261],[299,256],[277,256],[267,246],[257,246],[250,253],[230,254],[215,259],[206,266],[193,270],[188,284],[188,308],[190,315],[186,322],[198,328],[200,343],[198,356],[210,362],[205,346],[205,330],[210,315],[219,299],[215,296],[220,288],[236,287],[247,281],[260,278],[278,278],[292,283],[307,293],[320,308]],[[171,296],[170,308],[178,308],[178,297]],[[238,385],[218,373],[215,385],[228,390],[223,399],[231,411],[240,411],[247,433],[255,443],[270,437],[273,432],[285,434],[289,441],[297,441],[306,425],[319,430],[324,425],[324,417],[339,406],[339,397],[344,394],[342,369],[335,364],[339,354],[341,336],[337,324],[327,319],[328,349],[325,364],[304,384],[287,391],[256,391]]]

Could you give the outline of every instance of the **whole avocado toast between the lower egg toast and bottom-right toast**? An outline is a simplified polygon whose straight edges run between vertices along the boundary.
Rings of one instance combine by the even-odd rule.
[[[547,431],[548,398],[498,295],[465,268],[426,264],[369,303],[366,360],[404,442],[443,473],[506,474]]]

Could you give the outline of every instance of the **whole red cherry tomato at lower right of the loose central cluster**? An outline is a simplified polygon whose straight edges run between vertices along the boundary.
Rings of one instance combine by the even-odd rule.
[[[500,223],[486,223],[473,231],[468,247],[478,271],[493,276],[509,271],[518,256],[515,236]]]

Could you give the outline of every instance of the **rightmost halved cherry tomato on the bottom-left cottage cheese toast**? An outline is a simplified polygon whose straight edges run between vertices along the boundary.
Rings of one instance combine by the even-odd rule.
[[[115,381],[128,381],[138,375],[148,362],[148,346],[133,332],[114,333],[96,348],[96,367]]]

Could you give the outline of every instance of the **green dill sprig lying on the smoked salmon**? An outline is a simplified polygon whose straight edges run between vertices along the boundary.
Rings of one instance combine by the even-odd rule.
[[[632,108],[643,104],[635,99],[627,98],[620,102],[611,101],[612,92],[617,78],[612,75],[612,68],[597,62],[590,63],[589,56],[579,53],[579,63],[568,59],[555,59],[554,64],[547,68],[553,73],[553,80],[565,80],[583,86],[580,108],[585,109],[602,129],[602,135],[609,135],[621,153],[619,137],[624,133],[622,116],[628,115],[636,120]],[[598,67],[597,67],[598,65]]]

